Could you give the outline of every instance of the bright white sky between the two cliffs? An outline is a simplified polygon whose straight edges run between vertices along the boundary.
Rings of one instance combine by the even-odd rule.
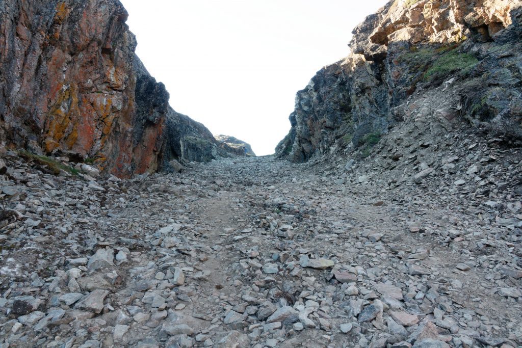
[[[121,0],[137,54],[177,112],[274,153],[295,93],[348,55],[386,0]]]

